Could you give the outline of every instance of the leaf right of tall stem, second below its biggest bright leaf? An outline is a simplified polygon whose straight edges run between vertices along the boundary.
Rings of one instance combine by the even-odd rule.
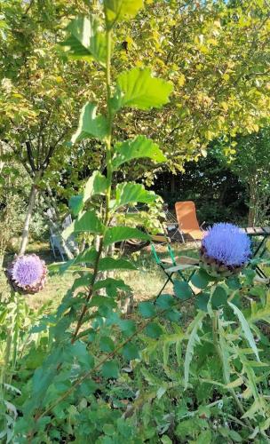
[[[116,208],[127,205],[128,203],[152,203],[155,202],[156,194],[153,191],[147,191],[141,184],[135,182],[123,182],[116,186],[115,201],[112,201],[112,207]]]

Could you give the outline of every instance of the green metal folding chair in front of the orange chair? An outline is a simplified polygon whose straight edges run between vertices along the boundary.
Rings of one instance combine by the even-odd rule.
[[[192,278],[193,274],[195,274],[195,271],[199,266],[199,262],[198,259],[189,258],[187,256],[181,256],[176,258],[173,250],[171,249],[170,239],[166,235],[162,234],[155,235],[151,236],[151,238],[152,238],[151,250],[155,258],[155,263],[157,266],[160,266],[160,268],[163,270],[163,273],[166,274],[167,276],[167,280],[163,284],[163,288],[160,290],[160,292],[157,295],[157,297],[159,297],[162,294],[163,289],[165,289],[166,285],[170,281],[171,283],[173,283],[172,276],[174,274],[178,274],[183,281],[187,282],[190,281],[190,279]],[[169,258],[160,258],[158,251],[156,249],[155,242],[159,242],[162,245],[164,244],[166,245],[167,251],[169,253]],[[189,274],[188,276],[185,276],[183,272],[190,269],[192,269],[192,273]],[[194,292],[194,289],[192,289],[192,291]]]

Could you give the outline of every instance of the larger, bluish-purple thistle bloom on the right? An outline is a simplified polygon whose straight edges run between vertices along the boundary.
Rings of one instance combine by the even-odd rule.
[[[224,266],[244,266],[250,259],[250,238],[238,226],[214,224],[203,238],[203,252]]]

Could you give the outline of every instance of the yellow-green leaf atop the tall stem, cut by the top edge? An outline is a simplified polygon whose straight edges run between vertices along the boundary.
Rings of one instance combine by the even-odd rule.
[[[108,25],[112,27],[115,21],[135,17],[139,9],[143,7],[143,0],[104,0],[104,4]]]

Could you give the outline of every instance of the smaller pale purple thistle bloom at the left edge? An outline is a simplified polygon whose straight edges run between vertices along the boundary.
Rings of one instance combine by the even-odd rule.
[[[33,294],[44,288],[47,268],[36,254],[28,254],[15,258],[7,275],[13,289]]]

